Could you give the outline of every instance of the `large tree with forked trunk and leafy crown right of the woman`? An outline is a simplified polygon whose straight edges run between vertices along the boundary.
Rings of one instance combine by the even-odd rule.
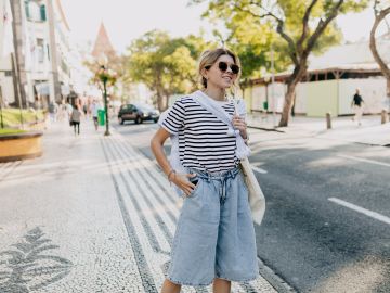
[[[292,65],[288,77],[282,118],[278,126],[288,126],[292,98],[298,82],[307,74],[312,52],[324,50],[338,41],[339,30],[333,22],[338,14],[358,12],[368,0],[191,0],[209,2],[208,13],[225,20],[226,24],[255,17],[260,27],[271,26],[284,40],[286,54]],[[246,30],[246,26],[239,26]],[[259,34],[264,31],[259,28]],[[272,36],[272,35],[271,35]]]

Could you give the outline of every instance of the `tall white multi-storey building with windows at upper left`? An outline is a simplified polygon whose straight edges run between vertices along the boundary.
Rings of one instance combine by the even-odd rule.
[[[0,13],[3,2],[0,0]],[[20,72],[24,75],[22,88],[26,102],[23,106],[39,104],[47,106],[50,101],[64,101],[74,89],[82,90],[88,84],[77,48],[72,44],[70,28],[60,0],[12,0],[20,1],[14,11],[20,36],[17,52]],[[0,41],[3,34],[0,29]],[[14,36],[15,37],[15,36]],[[18,53],[18,54],[17,54]],[[15,103],[14,78],[11,54],[0,58],[0,86],[5,104]],[[81,77],[80,77],[81,76]],[[21,82],[16,82],[21,84]],[[82,93],[82,92],[78,92]],[[39,103],[37,103],[39,101]]]

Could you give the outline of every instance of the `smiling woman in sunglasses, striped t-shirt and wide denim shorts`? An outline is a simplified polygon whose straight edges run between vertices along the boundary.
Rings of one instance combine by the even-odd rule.
[[[198,73],[203,90],[179,99],[151,141],[158,164],[182,190],[184,201],[161,293],[211,283],[213,292],[227,293],[232,281],[253,280],[259,270],[248,189],[237,156],[237,142],[246,146],[248,138],[245,117],[236,115],[226,95],[238,81],[239,60],[224,48],[206,51]],[[235,130],[195,98],[224,111]],[[185,173],[172,168],[165,154],[164,143],[172,136],[179,138]]]

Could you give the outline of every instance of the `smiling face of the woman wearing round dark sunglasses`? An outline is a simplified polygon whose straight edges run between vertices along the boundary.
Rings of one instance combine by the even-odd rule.
[[[238,73],[233,73],[231,68],[232,65],[236,66],[231,55],[221,55],[216,61],[216,63],[205,72],[205,77],[207,78],[207,88],[230,88],[237,79],[238,75]]]

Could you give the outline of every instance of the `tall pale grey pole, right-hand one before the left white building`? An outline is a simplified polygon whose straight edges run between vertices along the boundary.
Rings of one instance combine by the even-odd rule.
[[[49,52],[51,61],[50,80],[50,101],[61,102],[61,86],[58,78],[58,63],[55,41],[55,15],[53,0],[48,0],[48,26],[49,26]]]

